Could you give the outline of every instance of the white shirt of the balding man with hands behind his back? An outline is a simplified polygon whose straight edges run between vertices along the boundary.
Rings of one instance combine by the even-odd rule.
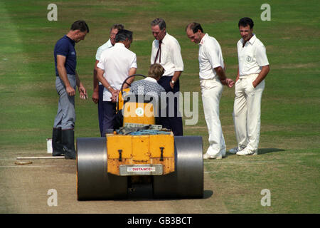
[[[209,36],[208,33],[203,36],[199,43],[198,60],[200,80],[213,79],[217,76],[214,68],[218,66],[224,68],[220,44],[214,37]]]

